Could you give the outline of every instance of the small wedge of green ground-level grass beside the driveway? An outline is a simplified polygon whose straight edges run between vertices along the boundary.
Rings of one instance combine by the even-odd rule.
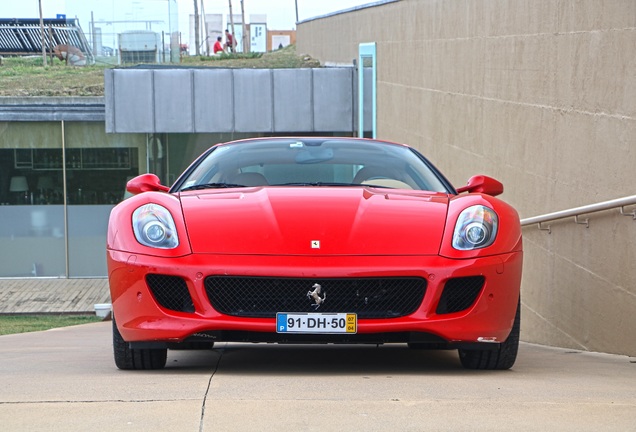
[[[0,315],[0,335],[100,322],[96,315]]]

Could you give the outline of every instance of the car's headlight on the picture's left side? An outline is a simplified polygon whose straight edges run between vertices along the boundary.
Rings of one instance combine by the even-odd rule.
[[[146,204],[133,212],[133,230],[142,245],[174,249],[179,246],[177,227],[170,212],[158,204]]]

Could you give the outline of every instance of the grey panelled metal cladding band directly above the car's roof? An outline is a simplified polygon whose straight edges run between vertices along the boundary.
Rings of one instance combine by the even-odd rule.
[[[106,132],[352,133],[356,78],[352,67],[109,69]]]

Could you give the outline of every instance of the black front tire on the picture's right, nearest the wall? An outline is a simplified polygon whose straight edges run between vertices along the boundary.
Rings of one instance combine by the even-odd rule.
[[[510,369],[517,360],[519,330],[521,328],[521,301],[517,303],[515,321],[505,342],[495,350],[459,349],[459,360],[466,369]]]

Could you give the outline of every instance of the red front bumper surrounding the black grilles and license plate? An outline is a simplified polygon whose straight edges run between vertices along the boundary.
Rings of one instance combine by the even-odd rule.
[[[186,340],[253,342],[464,343],[503,342],[508,337],[519,300],[522,253],[456,260],[439,256],[259,256],[188,255],[159,258],[108,251],[113,313],[127,342],[173,343]],[[177,276],[185,281],[192,311],[159,305],[146,275]],[[211,275],[244,277],[363,278],[421,277],[427,288],[419,307],[407,316],[359,319],[355,335],[280,335],[275,318],[224,315],[215,310],[204,280]],[[438,313],[446,282],[482,276],[474,303],[454,313]],[[280,311],[293,312],[293,311]],[[346,311],[343,311],[346,312]]]

